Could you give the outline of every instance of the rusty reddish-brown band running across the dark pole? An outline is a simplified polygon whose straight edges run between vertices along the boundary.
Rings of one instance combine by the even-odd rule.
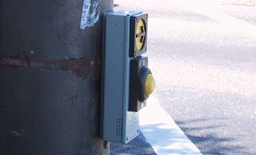
[[[99,67],[101,60],[86,58],[69,59],[69,60],[33,60],[25,57],[6,57],[0,55],[0,65],[2,67],[27,67],[40,70],[55,71],[73,71],[77,77],[87,77],[92,73],[93,77],[99,77]]]

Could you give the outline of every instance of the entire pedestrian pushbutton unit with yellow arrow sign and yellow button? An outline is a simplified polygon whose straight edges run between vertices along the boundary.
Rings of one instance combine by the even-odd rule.
[[[127,144],[139,135],[139,110],[155,88],[148,68],[147,13],[105,13],[101,138]]]

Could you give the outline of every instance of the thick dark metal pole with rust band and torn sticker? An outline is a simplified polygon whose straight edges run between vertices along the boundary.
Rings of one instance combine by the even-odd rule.
[[[0,9],[0,154],[109,154],[99,95],[113,0],[4,0]]]

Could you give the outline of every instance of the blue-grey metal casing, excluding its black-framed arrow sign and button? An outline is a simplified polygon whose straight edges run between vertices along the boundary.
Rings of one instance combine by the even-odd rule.
[[[131,17],[142,12],[104,13],[101,138],[127,144],[139,135],[139,112],[129,111]]]

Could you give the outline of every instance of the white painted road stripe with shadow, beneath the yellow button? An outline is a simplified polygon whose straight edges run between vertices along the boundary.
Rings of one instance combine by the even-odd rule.
[[[171,116],[159,106],[157,98],[151,96],[139,116],[141,132],[156,154],[201,154]]]

